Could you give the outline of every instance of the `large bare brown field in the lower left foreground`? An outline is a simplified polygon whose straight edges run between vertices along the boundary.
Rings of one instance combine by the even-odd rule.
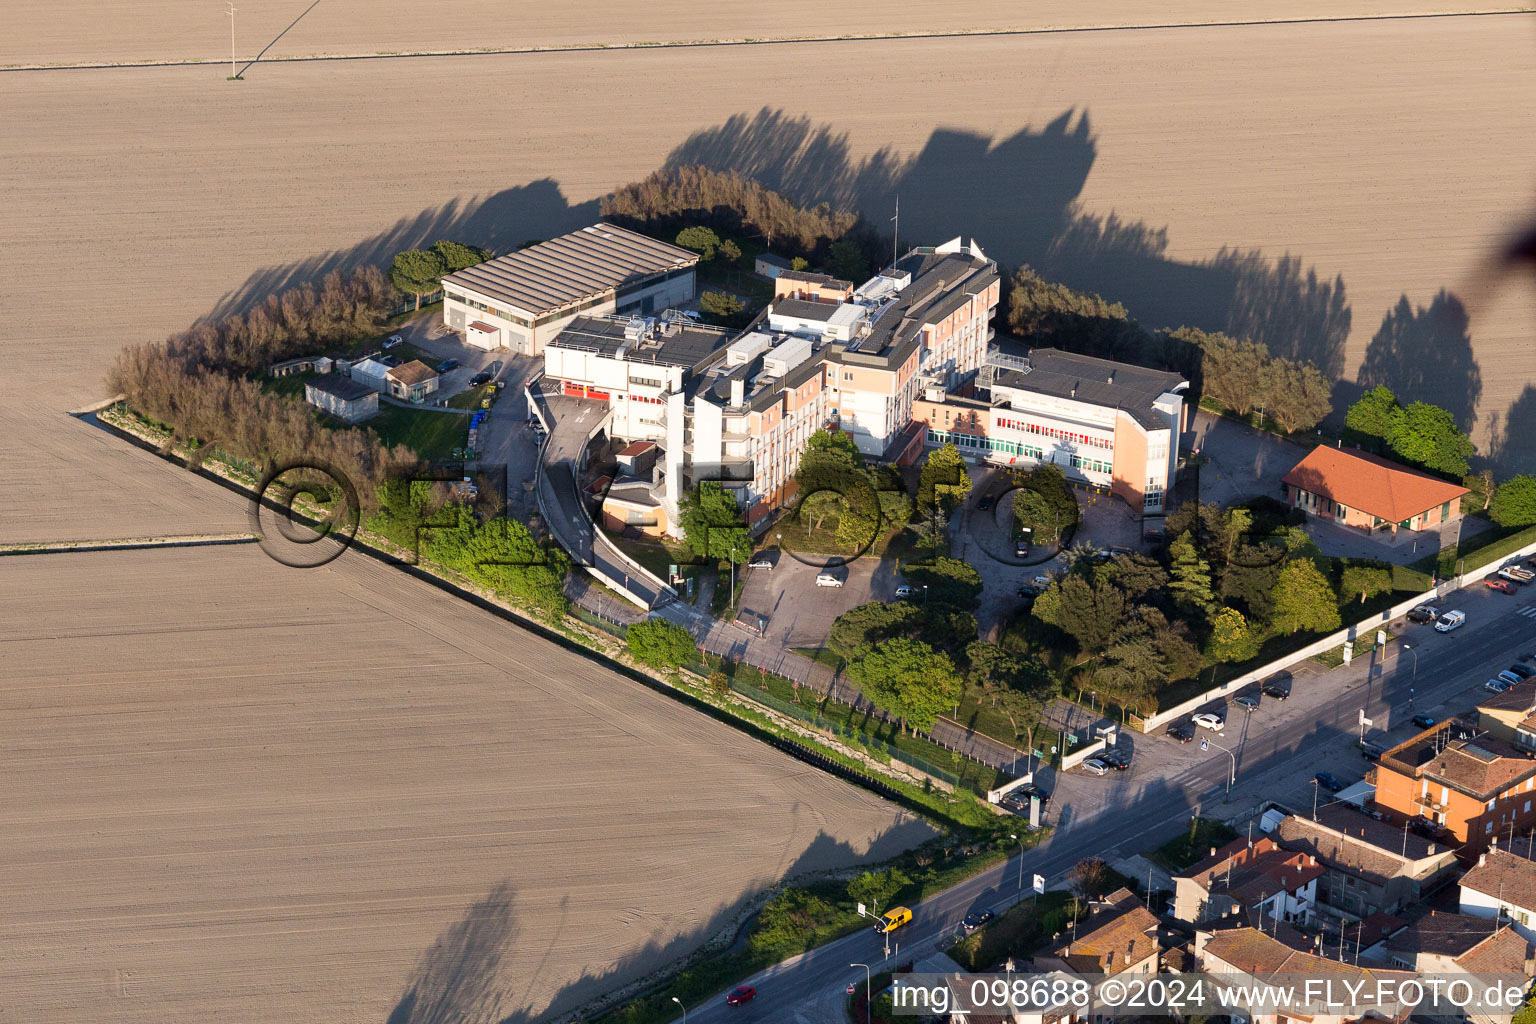
[[[356,553],[0,574],[11,1019],[521,1021],[931,834]]]

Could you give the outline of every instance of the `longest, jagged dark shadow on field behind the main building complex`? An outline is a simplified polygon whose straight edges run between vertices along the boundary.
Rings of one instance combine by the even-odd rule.
[[[846,132],[763,107],[694,132],[667,164],[736,170],[802,203],[854,209],[882,229],[900,195],[909,244],[974,235],[1000,263],[1028,263],[1124,302],[1147,327],[1221,330],[1342,373],[1350,307],[1341,278],[1321,278],[1290,253],[1170,259],[1166,227],[1078,206],[1097,154],[1089,114],[1077,109],[1001,140],[942,127],[911,157],[885,147],[854,158]]]

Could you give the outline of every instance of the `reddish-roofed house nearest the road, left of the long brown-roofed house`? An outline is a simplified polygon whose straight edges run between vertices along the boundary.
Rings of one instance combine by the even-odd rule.
[[[1174,875],[1174,917],[1190,924],[1233,915],[1256,926],[1309,924],[1324,872],[1312,854],[1281,849],[1269,837],[1238,838]]]

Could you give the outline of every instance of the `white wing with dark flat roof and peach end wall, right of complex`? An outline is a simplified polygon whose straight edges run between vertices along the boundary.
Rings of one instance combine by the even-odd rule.
[[[1161,513],[1178,467],[1184,391],[1178,373],[1034,348],[995,348],[971,395],[929,387],[914,419],[931,445],[952,441],[975,461],[1061,467],[1071,481],[1104,487],[1134,510]]]

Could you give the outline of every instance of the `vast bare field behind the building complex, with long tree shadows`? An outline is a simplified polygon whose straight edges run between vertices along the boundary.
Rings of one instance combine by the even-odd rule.
[[[1478,284],[1533,206],[1528,29],[1473,17],[442,57],[412,63],[404,91],[395,61],[272,64],[243,83],[218,68],[3,75],[0,117],[25,140],[0,150],[8,293],[89,301],[0,306],[11,494],[46,502],[0,517],[0,542],[72,536],[81,519],[91,536],[230,528],[206,522],[223,502],[72,474],[111,457],[75,454],[54,410],[100,398],[126,341],[439,236],[545,238],[668,160],[882,220],[900,192],[903,238],[974,233],[1146,322],[1261,336],[1346,381],[1379,338],[1384,379],[1530,468],[1536,292]]]

